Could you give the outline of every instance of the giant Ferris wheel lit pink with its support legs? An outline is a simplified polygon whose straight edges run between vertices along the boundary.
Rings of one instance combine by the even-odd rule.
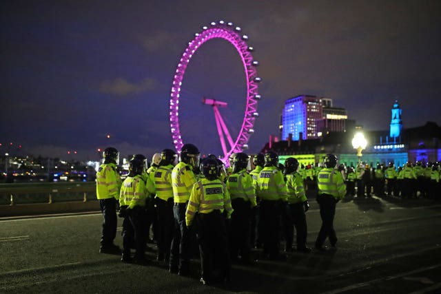
[[[170,130],[172,132],[172,139],[176,151],[181,151],[183,147],[183,140],[181,138],[181,131],[179,129],[178,109],[179,109],[179,96],[181,95],[181,87],[183,86],[183,76],[190,59],[203,45],[203,43],[211,39],[224,39],[234,45],[236,51],[240,55],[243,67],[245,70],[245,77],[247,83],[247,97],[245,106],[245,115],[243,117],[242,126],[237,138],[232,138],[229,134],[225,122],[223,121],[218,107],[226,107],[227,103],[216,101],[214,99],[203,99],[203,103],[211,105],[214,109],[214,115],[216,118],[216,126],[218,129],[220,145],[223,150],[223,160],[227,160],[230,154],[241,152],[243,149],[248,148],[249,136],[254,133],[253,125],[254,120],[258,116],[257,103],[260,100],[258,94],[258,83],[261,78],[257,76],[256,66],[259,64],[252,56],[254,48],[247,45],[248,36],[241,34],[239,27],[233,25],[233,23],[226,23],[225,21],[218,21],[218,23],[211,23],[209,26],[204,26],[203,30],[196,33],[194,39],[188,43],[187,48],[181,56],[181,60],[176,68],[174,75],[172,92],[170,98]],[[227,140],[225,140],[225,137]],[[228,145],[227,145],[228,144]]]

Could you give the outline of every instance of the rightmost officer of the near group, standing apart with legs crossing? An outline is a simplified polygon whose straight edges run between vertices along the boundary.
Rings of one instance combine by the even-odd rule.
[[[317,176],[317,202],[320,207],[320,218],[322,219],[322,227],[316,239],[316,249],[319,251],[327,250],[327,246],[323,246],[327,238],[329,238],[332,247],[336,246],[337,235],[334,230],[336,203],[346,194],[346,185],[343,182],[342,175],[335,169],[337,156],[327,154],[323,163],[325,168]]]

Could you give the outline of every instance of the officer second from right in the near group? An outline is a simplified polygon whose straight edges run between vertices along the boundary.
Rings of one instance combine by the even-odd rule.
[[[308,253],[311,251],[306,246],[307,223],[305,212],[309,203],[305,195],[302,176],[298,173],[298,160],[293,157],[285,160],[285,176],[287,178],[289,225],[285,229],[286,251],[291,251],[296,227],[297,251]]]

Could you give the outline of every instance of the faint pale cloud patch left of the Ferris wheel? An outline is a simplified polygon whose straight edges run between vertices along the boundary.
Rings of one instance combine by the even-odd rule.
[[[115,96],[139,94],[155,90],[158,81],[154,78],[144,78],[140,83],[130,83],[125,78],[115,78],[113,81],[103,81],[99,91]]]

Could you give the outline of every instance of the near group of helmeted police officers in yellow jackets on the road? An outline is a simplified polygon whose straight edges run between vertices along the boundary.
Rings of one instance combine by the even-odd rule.
[[[172,149],[163,149],[147,167],[145,156],[130,160],[129,174],[121,180],[117,170],[119,151],[108,147],[96,174],[96,196],[103,213],[101,253],[121,253],[121,261],[145,264],[147,238],[153,223],[158,246],[156,260],[168,262],[170,273],[189,275],[192,235],[196,235],[201,258],[201,282],[227,281],[231,262],[253,262],[251,249],[262,246],[263,258],[285,260],[285,251],[308,253],[307,221],[309,203],[304,178],[296,158],[287,158],[280,167],[274,151],[257,154],[255,169],[249,171],[249,156],[232,154],[230,167],[193,144],[183,145],[178,162]],[[176,165],[175,165],[176,163]],[[325,156],[325,168],[316,175],[322,227],[316,250],[327,251],[329,238],[336,246],[334,230],[336,203],[345,196],[337,158]],[[114,244],[117,215],[123,218],[123,249]],[[195,233],[195,234],[194,234]],[[132,257],[131,249],[135,249]]]

